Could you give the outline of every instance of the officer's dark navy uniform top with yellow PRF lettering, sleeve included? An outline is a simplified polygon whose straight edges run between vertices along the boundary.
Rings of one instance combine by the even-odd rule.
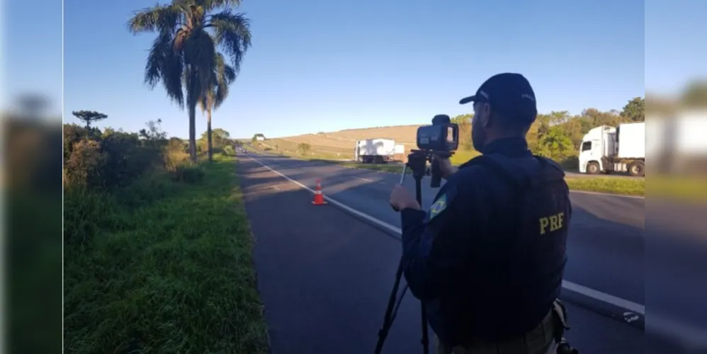
[[[451,346],[533,329],[560,294],[567,261],[572,207],[562,169],[520,138],[491,142],[484,155],[504,169],[473,159],[448,178],[429,212],[401,212],[405,279]]]

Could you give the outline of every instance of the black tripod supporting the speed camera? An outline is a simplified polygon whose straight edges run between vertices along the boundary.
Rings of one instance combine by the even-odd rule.
[[[432,182],[431,182],[431,187],[432,188],[437,188],[439,187],[440,181],[441,181],[441,172],[439,171],[439,164],[436,164],[436,161],[432,159],[432,154],[431,152],[426,152],[424,150],[412,150],[412,152],[407,156],[407,163],[405,164],[405,169],[402,170],[402,176],[400,177],[400,184],[402,185],[402,182],[405,181],[405,175],[407,173],[407,169],[412,170],[412,177],[415,179],[415,199],[417,199],[417,203],[422,206],[422,178],[425,175],[425,168],[427,165],[427,161],[430,161],[432,164],[432,170],[431,170],[431,177],[432,177]],[[378,343],[375,345],[375,354],[380,354],[380,351],[383,350],[383,342],[385,342],[385,338],[388,336],[388,331],[390,331],[390,327],[392,326],[392,321],[395,320],[395,316],[397,315],[397,309],[400,307],[400,304],[402,303],[402,297],[405,296],[405,292],[407,292],[407,284],[405,287],[402,289],[402,292],[400,292],[400,296],[397,297],[396,301],[396,296],[397,295],[397,289],[400,287],[400,279],[402,278],[402,272],[403,272],[403,264],[402,264],[402,259],[400,260],[400,264],[397,266],[397,272],[395,272],[395,283],[393,284],[392,287],[392,292],[390,292],[390,298],[388,299],[388,308],[385,309],[385,316],[383,317],[383,326],[380,327],[380,330],[378,330]],[[428,336],[428,331],[427,331],[427,312],[425,308],[424,302],[421,302],[421,307],[422,307],[422,353],[424,354],[429,354],[429,336]]]

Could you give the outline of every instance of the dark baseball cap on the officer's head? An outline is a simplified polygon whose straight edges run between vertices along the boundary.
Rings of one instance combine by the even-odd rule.
[[[533,122],[538,115],[538,104],[530,82],[525,76],[511,72],[491,76],[474,96],[462,98],[459,104],[469,102],[489,103],[493,110],[522,122]]]

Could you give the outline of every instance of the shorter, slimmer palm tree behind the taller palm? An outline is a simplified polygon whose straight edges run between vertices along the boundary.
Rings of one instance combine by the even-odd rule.
[[[211,86],[199,98],[201,113],[206,115],[206,140],[208,142],[209,162],[213,161],[213,144],[211,137],[211,112],[220,107],[228,96],[228,86],[235,81],[237,72],[226,64],[220,53],[217,53],[214,69],[211,74]]]

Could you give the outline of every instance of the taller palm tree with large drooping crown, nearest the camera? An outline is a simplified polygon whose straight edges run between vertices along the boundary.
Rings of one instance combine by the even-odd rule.
[[[156,32],[147,55],[145,83],[162,81],[167,96],[189,114],[189,153],[196,162],[196,105],[213,87],[217,48],[238,72],[251,44],[249,20],[231,8],[240,0],[172,0],[136,11],[128,21],[133,35]],[[183,87],[182,87],[183,86]],[[186,92],[186,97],[185,97]]]

